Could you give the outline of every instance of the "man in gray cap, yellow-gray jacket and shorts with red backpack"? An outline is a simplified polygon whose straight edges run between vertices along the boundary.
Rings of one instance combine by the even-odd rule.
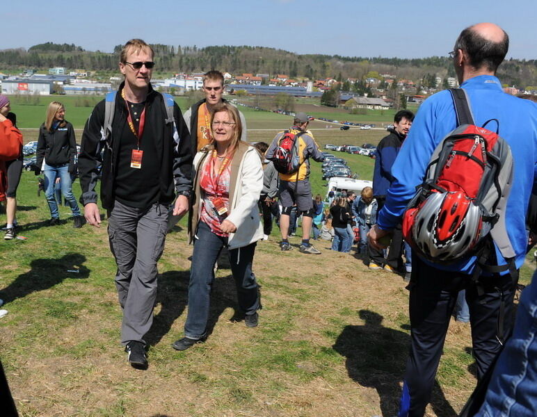
[[[291,250],[289,244],[289,215],[296,204],[297,215],[302,214],[302,243],[300,252],[320,254],[310,244],[310,233],[314,217],[312,186],[310,185],[310,158],[324,161],[312,133],[307,131],[309,120],[305,113],[296,113],[293,126],[287,131],[279,132],[266,152],[266,158],[273,161],[274,167],[280,172],[280,231],[282,251]]]

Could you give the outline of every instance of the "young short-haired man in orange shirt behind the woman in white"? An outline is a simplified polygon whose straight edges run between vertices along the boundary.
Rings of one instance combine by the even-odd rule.
[[[211,142],[211,111],[222,101],[224,93],[224,76],[220,71],[209,71],[203,76],[203,92],[205,99],[198,101],[189,110],[184,113],[184,121],[189,126],[190,136],[192,138],[192,152],[195,155],[202,147]],[[246,120],[244,115],[239,111],[242,123],[241,140],[246,142]]]

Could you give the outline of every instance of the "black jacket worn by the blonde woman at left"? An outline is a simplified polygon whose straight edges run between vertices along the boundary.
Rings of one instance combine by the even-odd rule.
[[[41,169],[43,158],[51,166],[69,164],[69,172],[74,170],[74,156],[77,154],[77,142],[74,139],[74,129],[70,122],[65,121],[53,131],[47,130],[45,123],[39,128],[38,149],[35,165]]]

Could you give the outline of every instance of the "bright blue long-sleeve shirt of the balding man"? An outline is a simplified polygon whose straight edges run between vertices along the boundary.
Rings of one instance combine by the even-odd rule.
[[[499,122],[499,136],[511,146],[514,160],[514,179],[506,207],[506,228],[516,254],[516,265],[524,262],[527,247],[525,229],[526,211],[532,187],[537,183],[537,104],[518,99],[503,92],[495,76],[481,75],[468,79],[462,85],[470,97],[474,122],[482,126],[495,118]],[[487,128],[495,129],[495,122]],[[440,141],[456,128],[456,113],[449,91],[429,97],[420,106],[412,129],[403,142],[394,165],[394,180],[387,191],[386,203],[378,214],[380,229],[393,229],[401,222],[406,204],[422,183],[431,154]],[[497,252],[498,265],[504,265]],[[470,273],[475,258],[436,268]]]

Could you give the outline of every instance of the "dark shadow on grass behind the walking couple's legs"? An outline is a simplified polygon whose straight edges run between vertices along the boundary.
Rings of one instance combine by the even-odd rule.
[[[220,260],[218,265],[221,265]],[[159,275],[157,303],[161,310],[153,318],[153,325],[144,339],[148,345],[157,345],[165,334],[170,332],[173,322],[186,310],[189,298],[190,271],[168,271]],[[235,310],[234,318],[239,318],[237,291],[232,275],[218,277],[211,290],[211,307],[207,320],[207,334],[210,336],[218,318],[228,307]],[[182,335],[177,335],[177,338]]]

